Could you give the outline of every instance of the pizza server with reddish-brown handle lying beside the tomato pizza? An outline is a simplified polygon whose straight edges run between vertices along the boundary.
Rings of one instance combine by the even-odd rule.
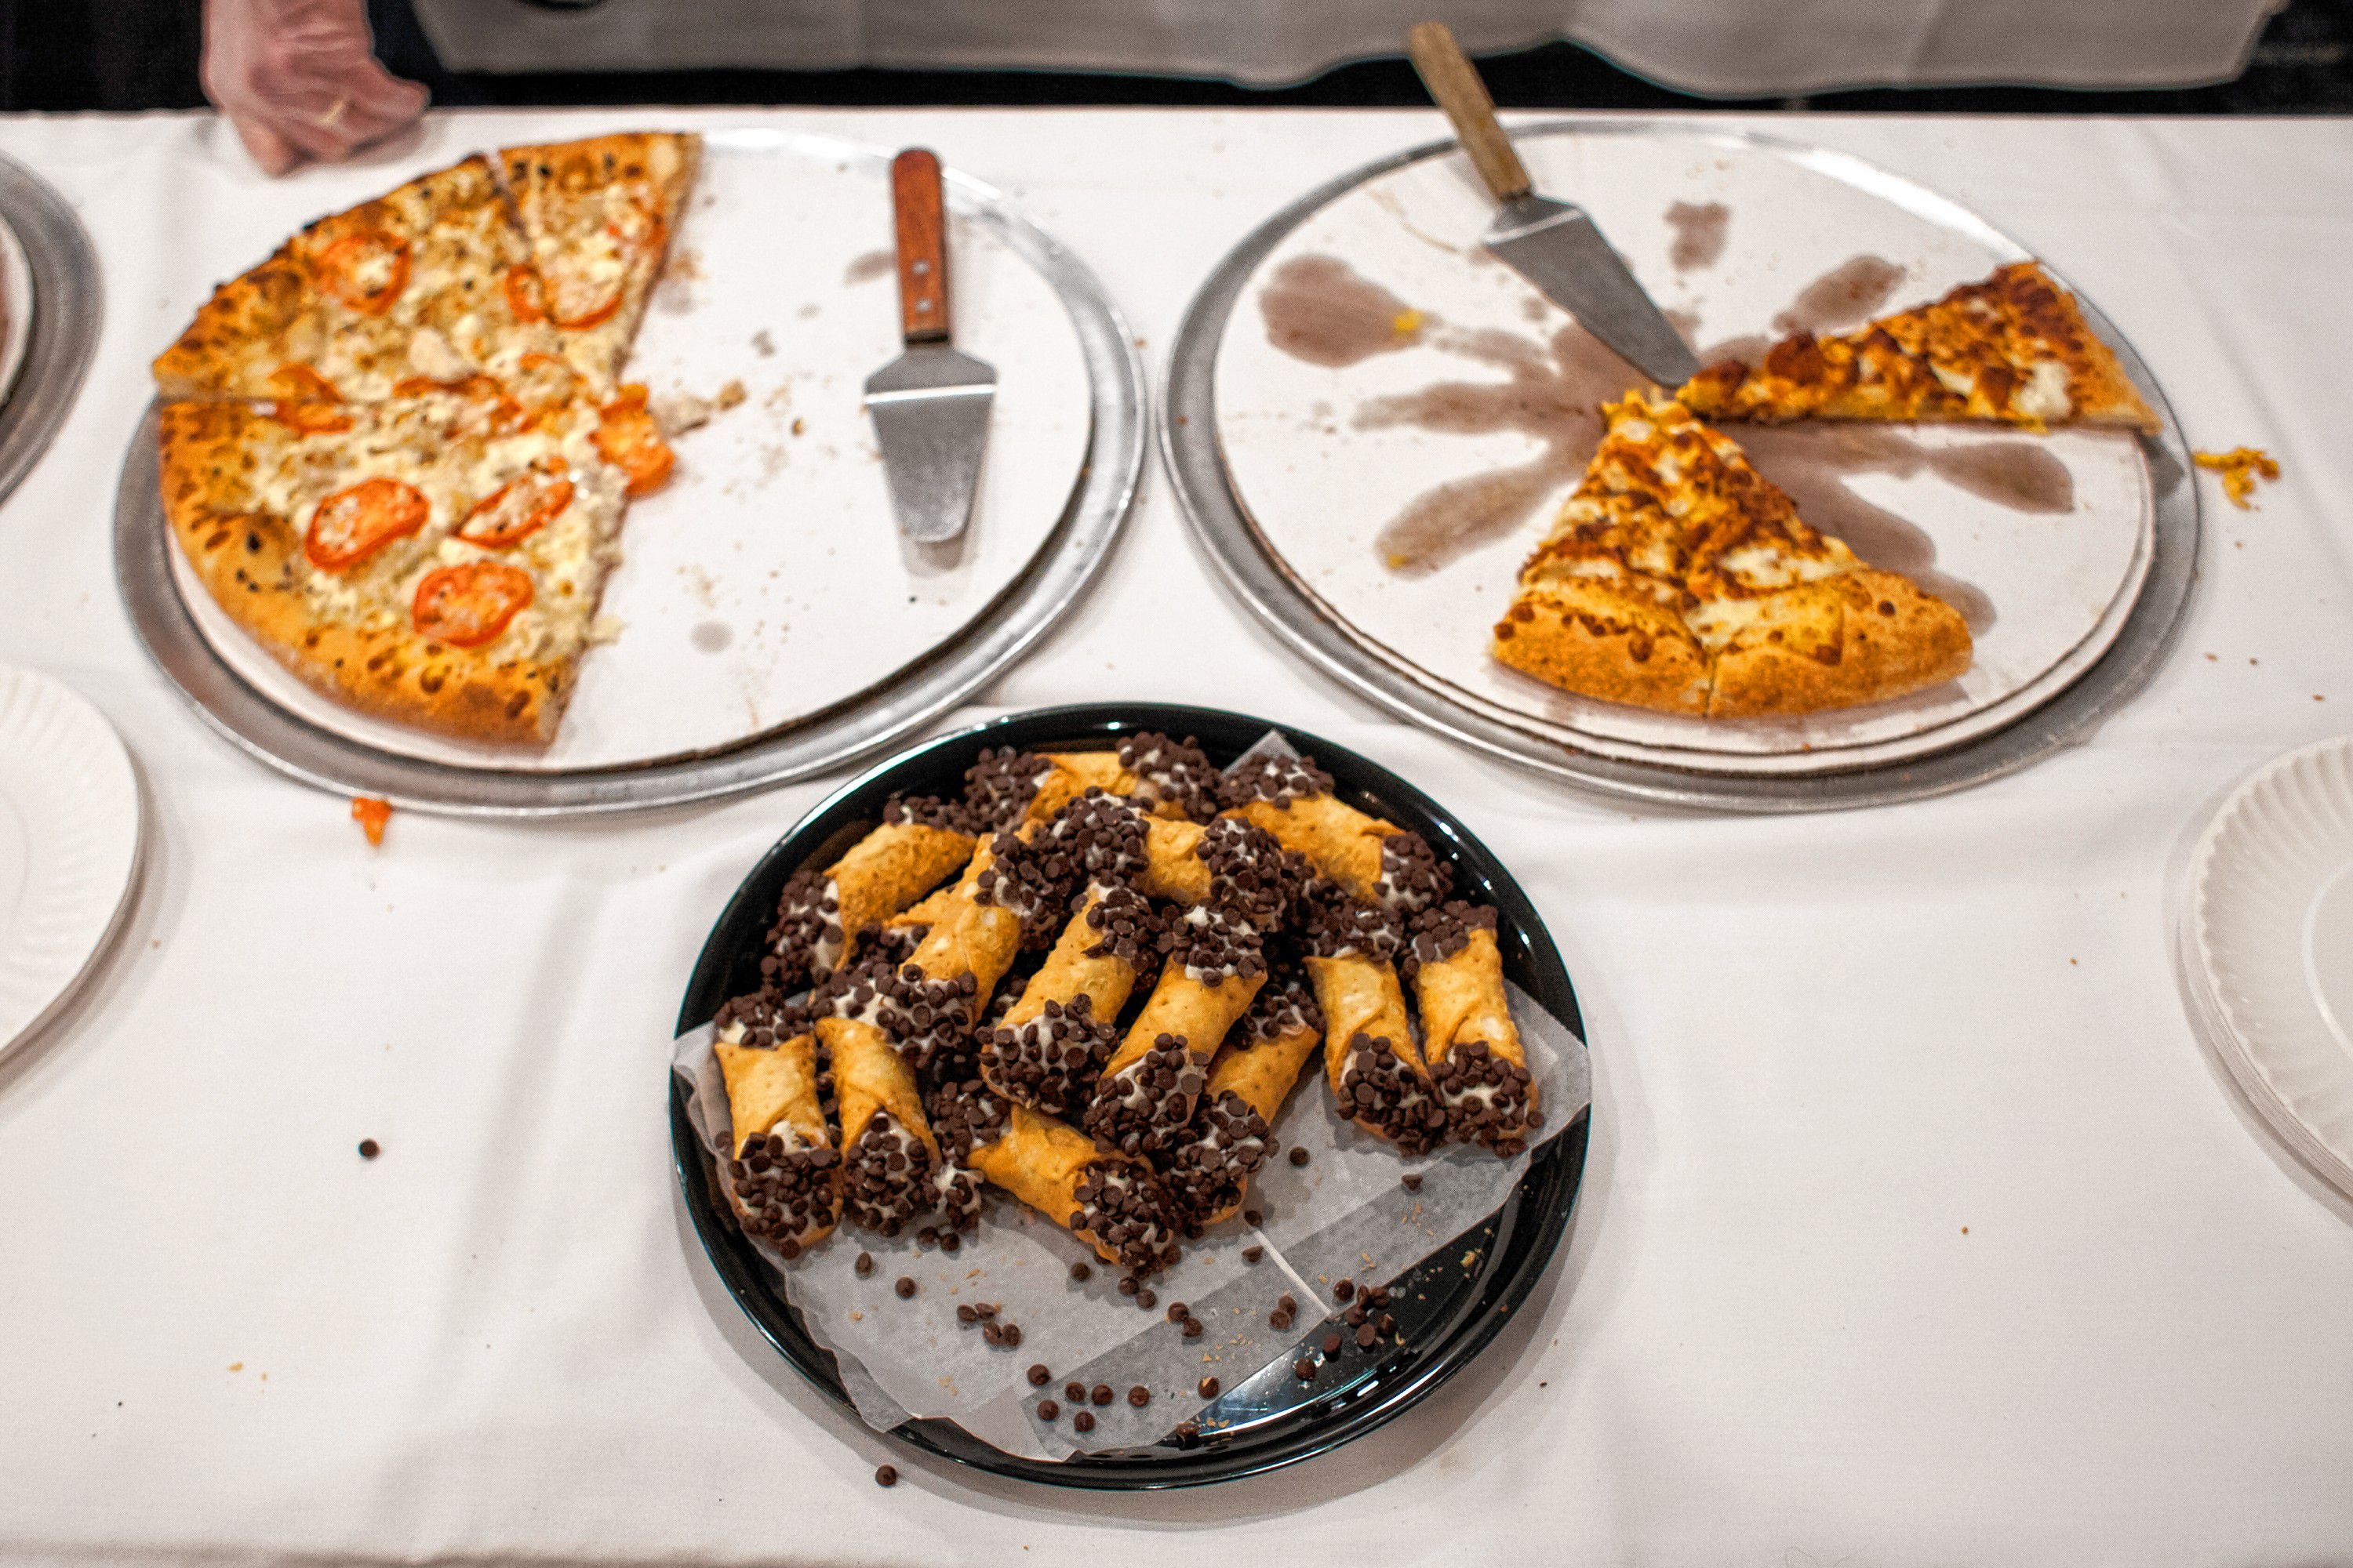
[[[906,353],[866,378],[899,529],[918,545],[965,531],[988,449],[998,371],[948,343],[948,219],[939,158],[908,148],[889,165],[899,233],[899,336]]]

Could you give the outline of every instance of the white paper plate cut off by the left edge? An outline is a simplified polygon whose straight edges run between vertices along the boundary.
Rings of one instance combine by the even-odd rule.
[[[0,665],[0,1051],[73,994],[129,907],[139,780],[96,708]]]

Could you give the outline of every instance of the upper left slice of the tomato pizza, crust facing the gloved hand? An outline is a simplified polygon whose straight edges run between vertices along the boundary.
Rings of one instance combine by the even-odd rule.
[[[402,381],[508,378],[562,353],[487,158],[325,216],[214,289],[155,357],[165,397],[376,402]],[[520,310],[518,310],[520,306]]]

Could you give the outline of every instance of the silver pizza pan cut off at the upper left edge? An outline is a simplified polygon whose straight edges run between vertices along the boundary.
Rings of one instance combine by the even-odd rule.
[[[99,259],[49,181],[0,158],[0,498],[66,423],[99,346]]]

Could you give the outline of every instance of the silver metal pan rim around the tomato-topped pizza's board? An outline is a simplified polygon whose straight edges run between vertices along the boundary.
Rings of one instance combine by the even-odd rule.
[[[1134,334],[1101,282],[981,181],[951,172],[948,207],[995,230],[1071,313],[1092,397],[1087,458],[1047,541],[995,604],[958,637],[831,712],[694,757],[539,773],[400,757],[308,724],[231,670],[179,595],[169,557],[176,545],[158,489],[153,407],[115,487],[115,578],[132,625],[195,712],[247,755],[320,790],[376,795],[414,811],[548,818],[678,806],[826,773],[894,745],[1021,658],[1078,599],[1134,510],[1144,477],[1151,393]]]

